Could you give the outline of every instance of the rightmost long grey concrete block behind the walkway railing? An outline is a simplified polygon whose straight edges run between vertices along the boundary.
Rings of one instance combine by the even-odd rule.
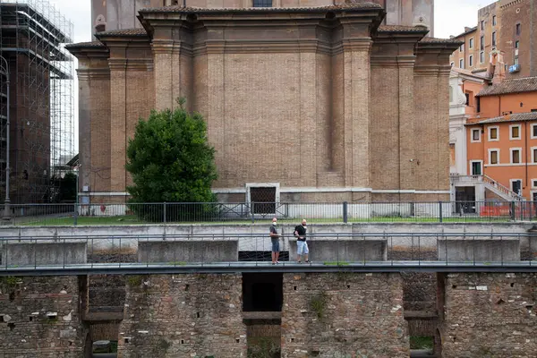
[[[439,260],[447,262],[503,262],[520,261],[520,240],[503,239],[445,239],[438,241]]]

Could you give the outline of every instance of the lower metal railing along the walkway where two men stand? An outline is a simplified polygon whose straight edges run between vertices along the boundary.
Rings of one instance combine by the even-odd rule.
[[[345,268],[464,266],[537,269],[537,236],[490,233],[315,233],[308,261],[293,234],[274,250],[267,234],[142,234],[17,236],[0,239],[0,275],[32,269],[203,267]],[[302,251],[304,253],[304,251]],[[301,260],[299,263],[298,260]],[[301,266],[302,265],[302,266]]]

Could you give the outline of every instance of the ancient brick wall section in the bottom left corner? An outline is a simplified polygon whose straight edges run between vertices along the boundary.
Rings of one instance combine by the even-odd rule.
[[[79,278],[0,277],[0,356],[80,358]]]

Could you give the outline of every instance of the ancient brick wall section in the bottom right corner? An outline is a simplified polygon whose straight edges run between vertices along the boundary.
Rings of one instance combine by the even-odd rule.
[[[442,357],[535,356],[537,274],[447,274],[439,282]]]

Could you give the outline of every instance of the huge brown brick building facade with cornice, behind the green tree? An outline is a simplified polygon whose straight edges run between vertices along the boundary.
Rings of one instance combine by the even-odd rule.
[[[207,120],[219,199],[447,200],[449,55],[374,3],[158,7],[79,59],[81,190],[125,200],[128,138],[153,108]],[[388,14],[389,16],[389,14]]]

